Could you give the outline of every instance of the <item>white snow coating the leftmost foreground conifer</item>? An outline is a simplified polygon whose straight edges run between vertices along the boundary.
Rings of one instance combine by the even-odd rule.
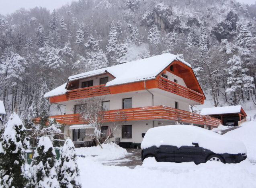
[[[10,139],[17,146],[16,150],[12,151],[12,153],[16,153],[18,151],[18,148],[21,148],[22,150],[24,150],[21,140],[18,142],[16,140],[16,130],[15,130],[16,125],[18,125],[18,126],[22,125],[22,128],[20,130],[21,131],[25,130],[25,127],[24,127],[22,121],[20,120],[20,118],[18,117],[18,115],[16,113],[13,113],[10,116],[8,122],[5,124],[4,133],[2,135],[5,140]],[[2,145],[0,146],[0,151],[1,151],[1,148],[2,148]],[[25,152],[25,150],[24,150],[24,152]]]

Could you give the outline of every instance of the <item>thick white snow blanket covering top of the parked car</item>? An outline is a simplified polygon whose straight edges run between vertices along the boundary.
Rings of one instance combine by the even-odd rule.
[[[196,142],[200,147],[218,154],[246,153],[243,142],[191,125],[168,125],[150,128],[143,138],[141,148],[159,147],[161,145],[194,146],[192,142]]]

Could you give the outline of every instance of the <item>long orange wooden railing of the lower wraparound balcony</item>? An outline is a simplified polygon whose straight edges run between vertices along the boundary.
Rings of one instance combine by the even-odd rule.
[[[168,106],[148,106],[140,108],[108,110],[101,113],[102,122],[166,119],[201,125],[205,124],[207,126],[215,127],[221,124],[221,120],[219,119],[195,114],[185,110],[178,110]],[[66,114],[50,116],[49,118],[55,118],[57,122],[62,124],[86,124],[86,121],[81,114]],[[36,118],[36,122],[39,122],[39,120],[40,118]]]

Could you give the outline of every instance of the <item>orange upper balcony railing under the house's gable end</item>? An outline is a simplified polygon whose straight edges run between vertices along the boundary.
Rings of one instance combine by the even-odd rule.
[[[171,80],[168,80],[163,77],[161,77],[158,80],[158,88],[160,88],[162,90],[166,90],[166,91],[174,93],[174,94],[177,94],[177,95],[180,95],[182,97],[194,100],[201,104],[203,104],[203,101],[204,101],[203,94],[195,92],[194,90],[191,90],[189,88],[181,86],[180,84],[172,82]]]

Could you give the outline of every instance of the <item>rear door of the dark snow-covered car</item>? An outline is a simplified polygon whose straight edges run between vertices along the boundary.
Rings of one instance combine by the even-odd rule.
[[[156,157],[159,162],[174,162],[174,148],[176,146],[161,145],[156,150]]]

